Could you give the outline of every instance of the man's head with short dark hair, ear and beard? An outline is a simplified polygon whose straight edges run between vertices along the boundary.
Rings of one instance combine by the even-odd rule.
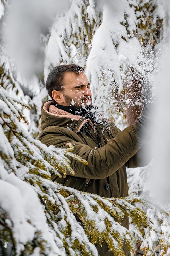
[[[59,105],[88,106],[92,103],[90,83],[82,67],[75,64],[55,67],[46,81],[48,94]]]

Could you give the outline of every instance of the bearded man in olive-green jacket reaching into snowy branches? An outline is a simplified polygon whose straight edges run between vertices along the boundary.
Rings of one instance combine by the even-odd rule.
[[[52,175],[53,181],[77,190],[95,193],[104,197],[128,196],[127,167],[140,167],[140,147],[145,136],[142,130],[147,123],[146,114],[141,119],[120,131],[114,123],[103,119],[92,106],[90,83],[82,67],[75,64],[61,65],[48,75],[46,89],[52,98],[42,108],[39,140],[45,145],[67,148],[74,146],[76,155],[88,165],[71,160],[75,176],[66,178]],[[128,228],[128,218],[122,225]],[[99,255],[112,255],[106,244],[97,250]],[[124,248],[125,254],[128,250]]]

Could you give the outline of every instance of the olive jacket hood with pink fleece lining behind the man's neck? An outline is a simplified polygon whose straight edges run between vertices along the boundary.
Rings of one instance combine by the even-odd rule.
[[[54,105],[52,100],[43,104],[41,114],[41,131],[48,126],[56,125],[79,132],[86,122],[89,122],[94,129],[94,125],[90,119],[85,119],[80,115],[73,115],[67,111],[59,109]]]

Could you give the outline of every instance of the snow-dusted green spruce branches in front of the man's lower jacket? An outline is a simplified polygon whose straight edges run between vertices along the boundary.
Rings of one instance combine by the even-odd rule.
[[[71,153],[71,145],[68,145],[69,148],[65,150],[51,146],[48,148],[31,138],[20,126],[21,119],[25,123],[27,120],[16,104],[24,105],[26,108],[29,106],[8,96],[2,87],[0,87],[0,100],[3,102],[3,107],[1,105],[0,108],[0,118],[3,122],[1,124],[14,152],[14,155],[10,152],[4,155],[3,150],[0,150],[4,167],[9,173],[14,172],[20,179],[32,185],[41,204],[44,205],[47,223],[53,232],[54,241],[55,236],[58,237],[68,255],[95,255],[90,242],[100,246],[104,242],[107,243],[109,250],[116,256],[124,255],[124,242],[134,251],[133,237],[128,229],[121,226],[121,222],[125,216],[130,216],[140,232],[144,227],[152,229],[152,222],[147,215],[131,204],[136,201],[144,203],[143,199],[136,197],[106,199],[52,182],[52,173],[60,177],[61,173],[65,176],[67,171],[72,171],[74,174],[66,158],[67,155],[87,163]],[[23,166],[24,171],[22,170],[21,176],[20,168]],[[80,229],[73,214],[77,216],[77,220],[81,221],[84,231]],[[4,218],[5,215],[2,214],[1,226],[5,223]],[[17,244],[15,244],[13,229],[8,229],[8,222],[6,223],[6,226],[1,228],[1,241],[10,240],[15,252]],[[29,223],[32,224],[31,219]],[[6,230],[9,232],[6,233]],[[85,238],[85,234],[89,240]],[[41,248],[40,255],[44,255],[48,247],[38,230],[35,232],[33,241],[24,244],[21,255],[28,255],[28,252],[31,255],[35,244]]]

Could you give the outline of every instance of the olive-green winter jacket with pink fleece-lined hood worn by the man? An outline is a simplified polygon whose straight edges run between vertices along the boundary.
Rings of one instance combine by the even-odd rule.
[[[71,143],[73,153],[88,162],[86,166],[70,159],[75,176],[52,175],[53,181],[108,198],[128,196],[126,166],[146,165],[137,153],[143,144],[135,131],[137,122],[120,131],[114,123],[103,119],[94,128],[91,120],[58,109],[52,101],[47,101],[42,107],[39,140],[47,146],[61,148],[68,148],[66,143]],[[122,225],[128,228],[127,218]],[[99,255],[104,255],[101,250],[98,248]],[[113,253],[107,251],[105,255],[113,256]]]

